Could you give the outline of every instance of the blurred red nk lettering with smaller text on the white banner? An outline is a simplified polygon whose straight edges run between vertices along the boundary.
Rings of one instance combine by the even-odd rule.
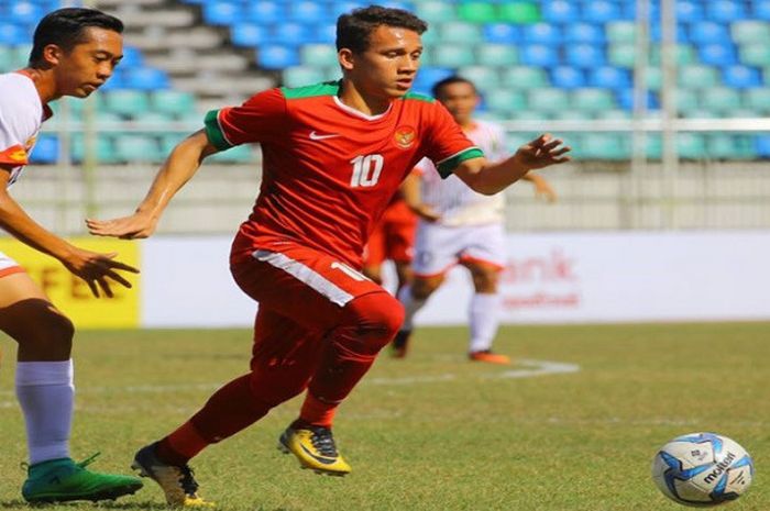
[[[512,251],[513,252],[513,251]],[[506,312],[574,310],[581,306],[578,259],[564,247],[529,248],[508,257],[501,276]]]

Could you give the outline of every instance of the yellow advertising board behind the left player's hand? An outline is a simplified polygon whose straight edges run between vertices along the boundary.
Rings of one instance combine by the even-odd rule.
[[[118,259],[140,268],[140,245],[120,240],[77,238],[74,245],[99,253],[118,253]],[[88,285],[70,274],[58,260],[12,240],[0,238],[0,252],[24,267],[51,301],[73,320],[78,329],[129,329],[139,326],[140,275],[122,271],[132,289],[111,286],[113,298],[95,298]]]

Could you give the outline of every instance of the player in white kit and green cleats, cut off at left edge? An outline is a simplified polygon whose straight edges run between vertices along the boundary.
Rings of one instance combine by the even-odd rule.
[[[90,9],[61,9],[35,30],[26,68],[0,75],[0,227],[58,259],[94,292],[112,296],[110,279],[131,285],[116,270],[138,271],[70,245],[32,220],[8,193],[28,163],[47,103],[63,96],[85,98],[112,75],[123,56],[123,24]],[[15,388],[30,451],[22,496],[29,502],[101,500],[133,493],[135,477],[86,469],[92,459],[69,457],[74,386],[73,323],[7,255],[0,253],[0,330],[19,343]]]

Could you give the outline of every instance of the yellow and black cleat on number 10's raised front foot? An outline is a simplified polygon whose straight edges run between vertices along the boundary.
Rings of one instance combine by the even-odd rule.
[[[334,437],[329,427],[287,427],[278,438],[278,449],[294,454],[302,468],[316,474],[344,476],[350,474],[350,465],[337,452]]]

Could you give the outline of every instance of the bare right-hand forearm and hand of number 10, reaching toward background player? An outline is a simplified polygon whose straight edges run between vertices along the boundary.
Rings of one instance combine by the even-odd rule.
[[[518,148],[515,155],[498,163],[486,158],[462,162],[454,175],[473,190],[487,196],[505,190],[521,179],[529,170],[569,162],[570,147],[559,138],[543,134]]]

